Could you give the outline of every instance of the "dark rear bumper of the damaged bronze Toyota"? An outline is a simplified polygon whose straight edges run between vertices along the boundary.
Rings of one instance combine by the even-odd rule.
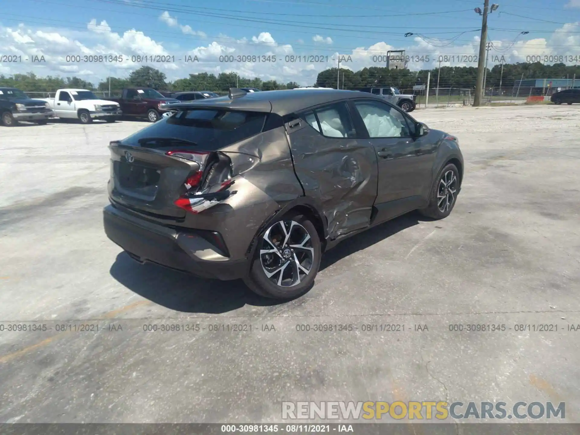
[[[147,222],[112,205],[103,209],[103,223],[107,237],[140,263],[160,264],[222,281],[242,278],[248,273],[247,259],[230,260],[207,237],[202,237],[202,231],[180,231]]]

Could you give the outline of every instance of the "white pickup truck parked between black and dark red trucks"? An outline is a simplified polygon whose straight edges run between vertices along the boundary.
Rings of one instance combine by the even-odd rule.
[[[100,100],[86,89],[59,89],[54,98],[42,100],[48,102],[57,118],[79,119],[81,124],[89,124],[93,119],[115,122],[123,114],[119,103]]]

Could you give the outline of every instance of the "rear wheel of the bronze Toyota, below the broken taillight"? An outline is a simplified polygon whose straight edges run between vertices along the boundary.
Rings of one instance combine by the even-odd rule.
[[[296,298],[312,288],[320,258],[321,243],[314,224],[306,216],[288,214],[258,236],[244,282],[266,298]]]

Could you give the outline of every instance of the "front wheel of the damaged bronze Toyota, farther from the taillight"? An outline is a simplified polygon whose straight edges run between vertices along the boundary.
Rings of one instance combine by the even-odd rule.
[[[455,206],[458,193],[459,171],[457,166],[450,163],[438,173],[429,194],[429,205],[420,209],[419,213],[436,220],[447,218]]]

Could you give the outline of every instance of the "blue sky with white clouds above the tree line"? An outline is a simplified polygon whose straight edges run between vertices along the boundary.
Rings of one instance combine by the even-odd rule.
[[[282,81],[295,77],[298,82],[308,82],[318,71],[336,65],[337,54],[351,55],[352,62],[346,67],[354,70],[379,66],[372,56],[386,54],[389,49],[405,49],[407,55],[418,56],[409,64],[411,69],[434,67],[442,55],[448,56],[445,64],[465,64],[460,55],[477,55],[481,27],[481,17],[473,11],[477,6],[483,8],[483,2],[408,0],[379,5],[360,0],[19,0],[2,6],[0,46],[5,52],[0,55],[42,53],[50,60],[34,65],[39,75],[68,73],[96,81],[106,77],[111,68],[113,75],[126,75],[135,65],[71,64],[63,56],[122,53],[182,57],[187,52],[199,55],[201,62],[185,65],[177,61],[158,67],[169,78],[235,70],[247,77]],[[532,55],[580,56],[578,24],[580,0],[501,2],[488,19],[488,37],[494,42],[490,54],[504,55],[506,61],[525,61]],[[521,35],[522,31],[529,33]],[[414,35],[405,38],[406,32]],[[332,59],[285,65],[219,62],[220,55],[266,54]],[[473,64],[469,61],[475,57],[469,59],[467,64]],[[577,63],[575,59],[571,62]],[[24,70],[31,70],[30,64],[0,64],[3,74]]]

